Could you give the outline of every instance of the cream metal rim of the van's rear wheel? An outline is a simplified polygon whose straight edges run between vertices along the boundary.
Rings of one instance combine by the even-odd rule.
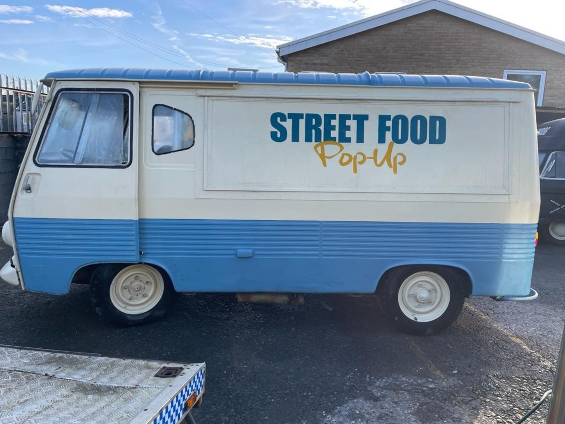
[[[398,291],[398,305],[406,317],[430,322],[441,317],[449,306],[451,292],[441,275],[420,271],[410,275]]]

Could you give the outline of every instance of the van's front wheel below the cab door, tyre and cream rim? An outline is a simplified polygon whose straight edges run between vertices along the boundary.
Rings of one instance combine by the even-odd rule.
[[[90,278],[90,300],[95,311],[119,326],[162,317],[173,294],[168,275],[144,263],[100,265]]]

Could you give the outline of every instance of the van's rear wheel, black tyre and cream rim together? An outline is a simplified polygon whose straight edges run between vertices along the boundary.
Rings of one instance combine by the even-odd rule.
[[[405,266],[386,274],[379,293],[385,312],[407,334],[444,331],[461,312],[465,291],[459,275],[443,266]]]

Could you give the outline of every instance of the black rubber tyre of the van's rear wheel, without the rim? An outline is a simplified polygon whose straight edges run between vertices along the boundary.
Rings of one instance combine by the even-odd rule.
[[[450,300],[440,317],[428,322],[418,322],[408,318],[401,310],[398,302],[398,292],[402,283],[411,275],[420,271],[434,272],[440,275],[450,291]],[[411,335],[424,336],[438,334],[455,322],[465,301],[466,291],[463,280],[458,272],[449,267],[437,265],[410,265],[393,269],[386,273],[379,282],[377,295],[388,317],[398,330]]]

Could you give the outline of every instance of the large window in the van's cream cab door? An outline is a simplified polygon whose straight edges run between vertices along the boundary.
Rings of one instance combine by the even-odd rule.
[[[127,93],[60,92],[36,162],[40,166],[127,166],[129,120]]]

